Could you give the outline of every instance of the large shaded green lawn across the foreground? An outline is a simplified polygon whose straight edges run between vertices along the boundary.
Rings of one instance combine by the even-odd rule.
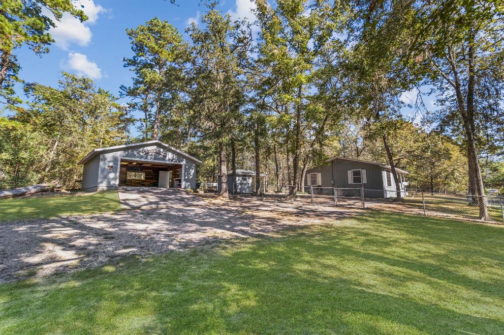
[[[369,211],[0,286],[0,333],[504,332],[504,229]]]

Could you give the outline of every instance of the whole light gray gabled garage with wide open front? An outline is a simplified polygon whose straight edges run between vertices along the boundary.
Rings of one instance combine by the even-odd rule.
[[[79,163],[82,189],[94,192],[120,186],[194,189],[201,160],[155,140],[94,149]]]

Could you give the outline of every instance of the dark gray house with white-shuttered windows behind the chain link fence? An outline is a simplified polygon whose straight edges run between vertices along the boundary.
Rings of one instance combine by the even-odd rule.
[[[370,198],[396,196],[396,184],[389,165],[372,161],[334,156],[328,165],[313,167],[306,171],[304,185],[307,187],[335,187],[341,189],[364,188]],[[407,171],[397,169],[401,192],[406,195]],[[383,191],[383,192],[382,192]]]

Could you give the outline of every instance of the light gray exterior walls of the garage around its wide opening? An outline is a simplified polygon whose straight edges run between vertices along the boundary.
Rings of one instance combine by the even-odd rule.
[[[156,153],[150,154],[142,154],[142,149],[156,149],[161,148],[166,151],[168,154],[166,157],[158,155]],[[135,159],[143,159],[143,160],[157,160],[157,161],[165,161],[170,163],[177,163],[183,165],[183,188],[196,188],[196,162],[192,159],[188,159],[183,155],[178,154],[177,152],[170,151],[168,148],[165,148],[162,145],[138,145],[134,147],[124,148],[122,150],[110,149],[102,151],[97,154],[91,160],[87,161],[84,164],[84,171],[88,169],[87,165],[90,164],[95,159],[98,159],[99,166],[93,167],[96,171],[96,183],[93,182],[94,176],[88,175],[92,177],[90,181],[87,178],[83,177],[83,189],[84,184],[86,185],[95,183],[95,186],[98,190],[110,190],[116,189],[119,183],[119,165],[120,158],[135,158]],[[96,164],[94,162],[93,164]],[[107,170],[107,166],[111,165],[112,169]]]

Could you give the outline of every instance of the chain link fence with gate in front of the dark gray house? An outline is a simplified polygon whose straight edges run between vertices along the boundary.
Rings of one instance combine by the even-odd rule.
[[[282,188],[280,194],[288,197],[293,186]],[[384,211],[417,214],[433,217],[462,220],[482,220],[504,223],[504,197],[438,194],[428,192],[368,190],[362,188],[305,187],[299,189],[300,202],[344,206],[353,208],[372,208]],[[481,219],[486,204],[487,218]]]

